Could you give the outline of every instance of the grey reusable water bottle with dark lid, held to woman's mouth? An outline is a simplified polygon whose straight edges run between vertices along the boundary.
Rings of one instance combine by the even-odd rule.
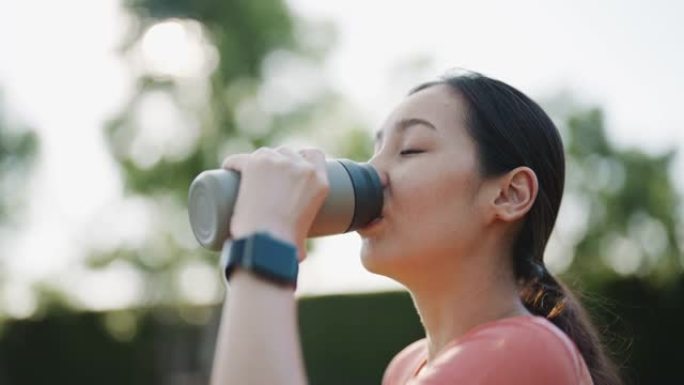
[[[347,159],[326,161],[330,190],[311,225],[308,236],[341,234],[359,229],[380,216],[382,183],[368,163]],[[219,251],[230,238],[230,218],[237,201],[240,173],[208,170],[190,185],[188,214],[197,241]]]

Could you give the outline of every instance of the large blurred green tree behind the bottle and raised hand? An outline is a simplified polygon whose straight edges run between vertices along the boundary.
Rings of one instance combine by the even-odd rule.
[[[365,131],[318,64],[334,31],[297,19],[282,0],[124,4],[133,22],[121,53],[137,88],[106,132],[127,195],[144,202],[149,234],[142,244],[93,249],[89,265],[133,267],[148,304],[217,300],[217,256],[198,248],[187,219],[197,174],[264,145],[365,155],[345,145]]]

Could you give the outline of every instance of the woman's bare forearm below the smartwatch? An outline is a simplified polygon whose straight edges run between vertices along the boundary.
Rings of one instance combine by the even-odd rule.
[[[306,384],[291,288],[242,270],[231,277],[211,385]]]

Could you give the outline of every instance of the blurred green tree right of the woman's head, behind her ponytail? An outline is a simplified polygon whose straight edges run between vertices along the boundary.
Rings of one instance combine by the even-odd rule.
[[[599,108],[567,95],[549,101],[566,150],[566,191],[557,233],[567,276],[586,286],[619,276],[666,285],[684,272],[681,201],[671,177],[676,151],[618,148]]]

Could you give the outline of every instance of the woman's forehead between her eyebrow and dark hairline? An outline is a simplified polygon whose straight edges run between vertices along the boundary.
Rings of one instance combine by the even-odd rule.
[[[438,132],[449,134],[465,122],[462,97],[447,85],[439,84],[420,90],[406,97],[390,114],[376,139],[390,134],[401,122],[418,119],[431,123]]]

